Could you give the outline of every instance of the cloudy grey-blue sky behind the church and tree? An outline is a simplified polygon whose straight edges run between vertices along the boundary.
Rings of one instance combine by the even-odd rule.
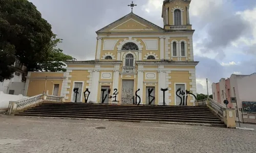
[[[77,60],[94,59],[95,31],[131,12],[128,0],[29,0],[41,12]],[[134,13],[163,27],[162,0],[134,0]],[[192,0],[190,23],[195,29],[198,93],[209,93],[211,83],[232,73],[256,72],[256,1]]]

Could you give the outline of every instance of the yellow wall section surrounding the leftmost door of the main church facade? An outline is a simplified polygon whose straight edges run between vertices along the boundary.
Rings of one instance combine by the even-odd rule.
[[[68,102],[71,101],[71,96],[72,96],[72,92],[73,92],[73,84],[74,81],[83,81],[84,85],[83,85],[83,89],[82,92],[86,91],[86,86],[88,86],[87,81],[90,79],[88,76],[90,75],[90,73],[88,72],[88,70],[73,70],[72,72],[69,73],[70,75],[72,75],[72,78],[69,78],[69,80],[71,81],[71,83],[68,83],[68,86],[70,86],[70,89],[67,89],[67,91],[69,91],[69,94],[67,94],[66,96],[68,96],[69,98],[66,100]],[[84,96],[82,93],[82,103],[84,103]]]

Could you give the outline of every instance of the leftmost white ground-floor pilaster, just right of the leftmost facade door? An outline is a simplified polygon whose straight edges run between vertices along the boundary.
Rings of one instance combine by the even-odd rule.
[[[91,91],[91,101],[97,103],[98,88],[99,88],[99,73],[100,70],[93,70],[93,81],[92,81],[92,91]]]

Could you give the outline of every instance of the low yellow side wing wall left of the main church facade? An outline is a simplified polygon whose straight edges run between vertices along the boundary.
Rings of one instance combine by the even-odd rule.
[[[27,96],[35,96],[44,93],[45,83],[48,94],[52,95],[54,84],[59,84],[58,96],[60,96],[62,80],[61,79],[36,79],[37,77],[63,77],[63,72],[31,72],[29,81]]]

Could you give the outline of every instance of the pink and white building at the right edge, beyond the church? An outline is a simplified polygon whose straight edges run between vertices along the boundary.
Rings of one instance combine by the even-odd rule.
[[[227,99],[229,101],[228,108],[236,108],[236,110],[240,110],[238,112],[241,121],[244,120],[256,123],[256,94],[253,93],[256,89],[256,73],[250,75],[232,74],[228,79],[222,78],[219,83],[213,83],[211,88],[212,98],[215,101],[226,107],[223,101],[224,99]],[[238,107],[236,106],[236,103],[231,103],[231,97],[236,97]],[[245,109],[248,106],[243,106],[242,101],[247,101],[246,103],[249,102],[254,105],[255,110],[252,106],[250,112],[247,112]],[[243,109],[243,115],[241,109]]]

